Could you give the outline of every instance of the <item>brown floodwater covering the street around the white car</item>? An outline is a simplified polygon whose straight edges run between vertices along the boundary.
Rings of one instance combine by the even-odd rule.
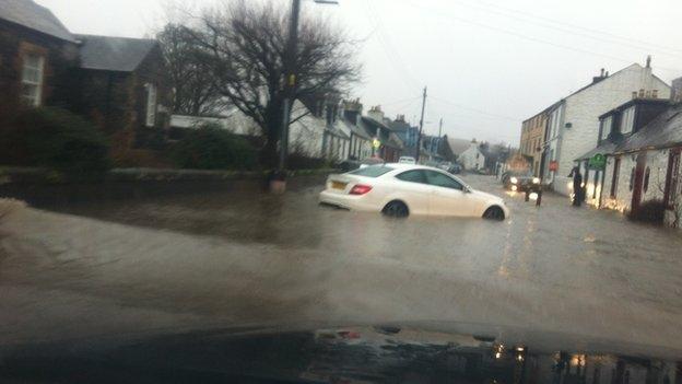
[[[682,350],[682,236],[538,208],[505,222],[319,207],[319,186],[19,209],[0,220],[0,347],[197,327],[496,324]]]

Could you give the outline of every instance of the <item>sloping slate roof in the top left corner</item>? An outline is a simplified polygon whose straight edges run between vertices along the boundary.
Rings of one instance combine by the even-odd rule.
[[[62,40],[75,42],[75,37],[50,10],[33,0],[1,0],[0,19]]]

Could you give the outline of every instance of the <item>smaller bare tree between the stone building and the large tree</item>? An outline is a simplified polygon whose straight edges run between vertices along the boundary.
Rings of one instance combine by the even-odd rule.
[[[191,116],[213,115],[223,106],[223,100],[201,61],[193,36],[187,26],[174,23],[166,24],[156,35],[173,81],[173,112]]]

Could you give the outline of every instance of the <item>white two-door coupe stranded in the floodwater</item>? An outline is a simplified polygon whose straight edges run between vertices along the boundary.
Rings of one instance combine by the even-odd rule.
[[[430,214],[495,220],[509,217],[509,209],[497,196],[475,190],[442,170],[399,163],[330,175],[319,201],[392,217]]]

